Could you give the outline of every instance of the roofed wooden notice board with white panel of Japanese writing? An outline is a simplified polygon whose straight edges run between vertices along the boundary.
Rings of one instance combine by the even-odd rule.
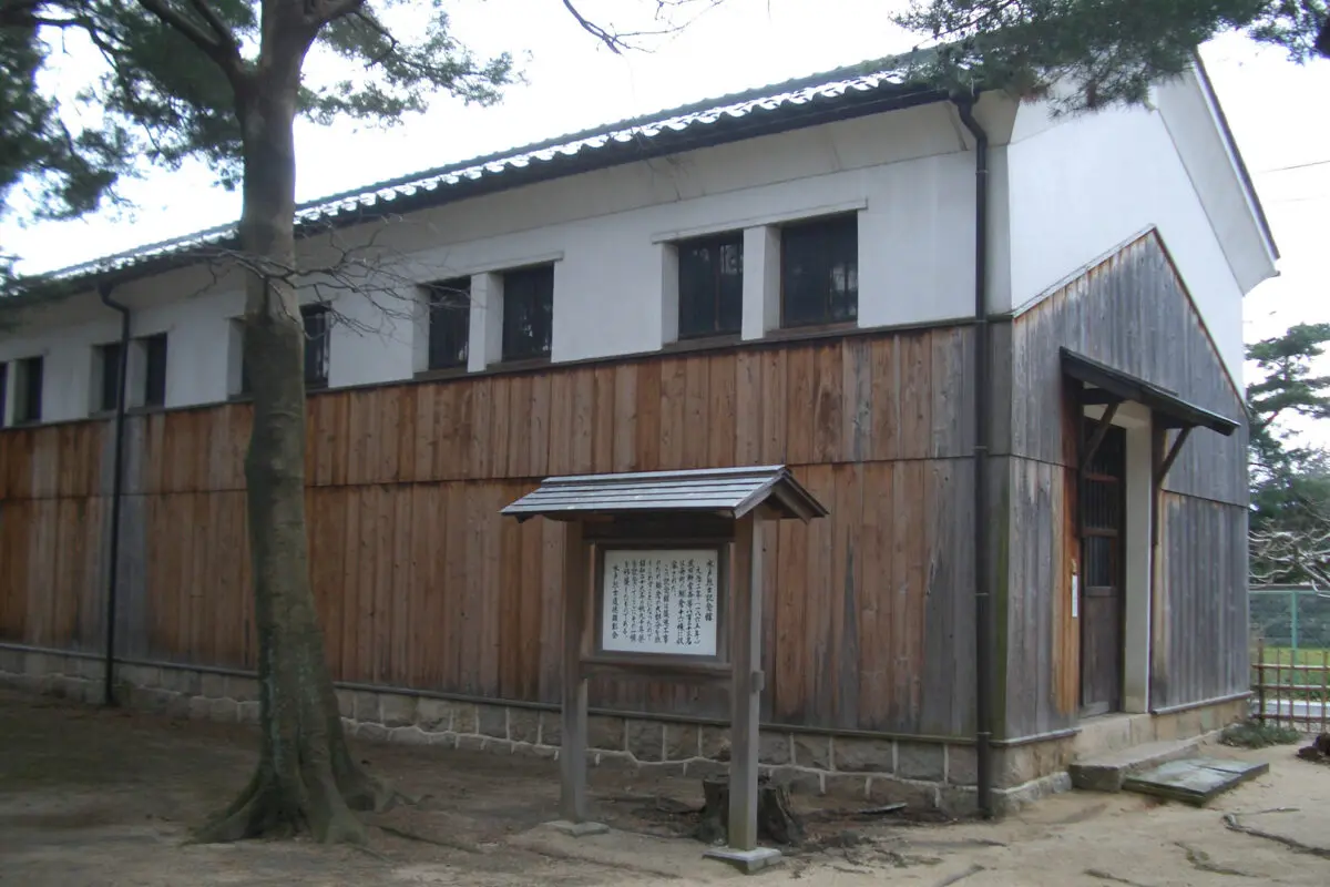
[[[568,525],[564,543],[563,789],[555,826],[606,831],[587,805],[588,677],[730,688],[729,842],[706,851],[753,872],[758,846],[762,529],[827,512],[782,465],[551,477],[503,509]]]

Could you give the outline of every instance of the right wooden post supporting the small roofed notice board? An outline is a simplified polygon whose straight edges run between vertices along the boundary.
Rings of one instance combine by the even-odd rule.
[[[730,726],[730,850],[757,850],[758,718],[762,699],[762,519],[739,521],[730,589],[733,706]]]

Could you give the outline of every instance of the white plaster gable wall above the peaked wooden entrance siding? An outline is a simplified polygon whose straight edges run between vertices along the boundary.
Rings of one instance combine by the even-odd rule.
[[[1208,213],[1174,144],[1174,134],[1197,138],[1204,133],[1192,129],[1213,125],[1192,114],[1176,117],[1170,132],[1160,112],[1146,109],[1055,121],[1043,105],[1023,106],[1007,146],[1012,307],[1047,295],[1096,257],[1157,226],[1241,390],[1249,286],[1240,286],[1212,215],[1221,229],[1233,227],[1241,219],[1229,217],[1246,210],[1230,195],[1210,201]],[[1221,188],[1218,170],[1208,188]],[[1271,262],[1249,269],[1245,282],[1254,286],[1273,270]]]

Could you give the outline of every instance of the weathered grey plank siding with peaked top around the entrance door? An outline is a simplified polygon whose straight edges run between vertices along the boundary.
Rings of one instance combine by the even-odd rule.
[[[1008,674],[1029,677],[1008,682],[1003,733],[1029,735],[1073,726],[1079,710],[1080,625],[1069,612],[1077,407],[1060,346],[1234,420],[1245,411],[1156,231],[1017,315],[1011,340],[1011,547],[999,632]],[[1060,419],[1049,415],[1055,403]],[[1245,435],[1245,426],[1232,438],[1197,430],[1165,481],[1152,707],[1246,689]]]

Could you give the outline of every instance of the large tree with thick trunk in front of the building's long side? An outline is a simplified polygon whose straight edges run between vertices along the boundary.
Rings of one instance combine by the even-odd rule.
[[[694,1],[648,7],[660,16]],[[610,49],[628,45],[563,5]],[[311,59],[323,77],[307,76]],[[351,809],[384,799],[347,750],[310,588],[295,120],[391,125],[436,94],[496,101],[511,78],[507,55],[477,59],[458,41],[444,0],[0,0],[0,209],[17,189],[35,218],[82,215],[114,199],[122,177],[192,157],[242,195],[227,253],[246,282],[262,741],[253,779],[205,840],[363,840]],[[0,265],[9,290],[51,286]]]

